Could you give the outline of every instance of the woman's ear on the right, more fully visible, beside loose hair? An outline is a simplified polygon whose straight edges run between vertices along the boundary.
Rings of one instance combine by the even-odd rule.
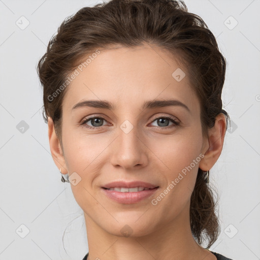
[[[220,113],[216,116],[215,124],[208,130],[209,137],[205,138],[203,147],[204,157],[201,159],[199,168],[202,171],[210,170],[221,154],[224,136],[226,132],[225,115]]]

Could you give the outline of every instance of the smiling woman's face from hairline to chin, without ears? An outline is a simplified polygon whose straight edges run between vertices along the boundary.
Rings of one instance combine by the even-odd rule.
[[[147,235],[177,219],[187,221],[208,148],[188,72],[168,52],[148,45],[104,50],[90,60],[78,69],[62,104],[62,172],[74,173],[71,187],[85,217],[117,236],[124,231]],[[90,100],[109,102],[113,109],[73,109]],[[167,100],[184,105],[143,108]],[[139,201],[116,201],[103,188],[113,181],[143,181],[158,188]]]

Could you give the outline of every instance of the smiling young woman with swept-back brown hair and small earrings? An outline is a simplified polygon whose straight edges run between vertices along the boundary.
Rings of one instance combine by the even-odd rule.
[[[60,25],[38,74],[51,153],[84,212],[84,259],[229,259],[209,250],[225,68],[205,22],[174,0],[112,0]]]

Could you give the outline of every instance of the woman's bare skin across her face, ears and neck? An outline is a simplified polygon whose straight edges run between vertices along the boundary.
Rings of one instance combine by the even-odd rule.
[[[210,170],[221,153],[226,121],[219,114],[209,138],[202,136],[200,103],[187,69],[181,67],[186,76],[180,82],[172,77],[180,68],[176,61],[147,44],[102,50],[68,86],[62,104],[62,140],[49,117],[56,166],[64,174],[76,172],[81,178],[71,188],[84,212],[90,260],[216,259],[193,239],[189,207],[199,167]],[[181,101],[190,112],[181,106],[142,110],[145,101],[169,98]],[[116,109],[82,107],[72,112],[83,100],[107,100]],[[169,115],[180,124],[168,121],[172,127],[164,129],[156,119]],[[88,129],[80,125],[87,116],[105,120],[103,124],[89,120],[85,125],[96,129]],[[125,120],[134,127],[128,134],[120,128]],[[204,154],[200,162],[152,205],[151,200],[200,154]],[[121,204],[101,192],[102,185],[114,180],[141,180],[159,188],[152,198]],[[120,231],[126,224],[132,230],[129,237]]]

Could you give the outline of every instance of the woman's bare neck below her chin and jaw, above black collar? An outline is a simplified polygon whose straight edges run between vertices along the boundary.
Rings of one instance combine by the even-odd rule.
[[[186,207],[174,221],[160,224],[151,232],[144,231],[144,236],[129,237],[122,236],[120,232],[118,236],[108,233],[84,214],[89,248],[88,260],[216,259],[210,251],[194,240],[188,213],[189,207]]]

